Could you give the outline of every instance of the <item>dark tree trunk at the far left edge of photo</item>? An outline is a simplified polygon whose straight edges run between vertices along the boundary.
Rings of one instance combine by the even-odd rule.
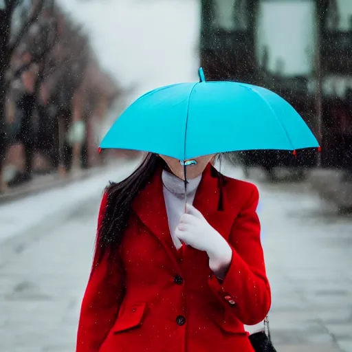
[[[5,74],[10,65],[10,51],[8,48],[10,34],[10,14],[0,10],[0,192],[3,190],[3,164],[7,150],[5,99]]]

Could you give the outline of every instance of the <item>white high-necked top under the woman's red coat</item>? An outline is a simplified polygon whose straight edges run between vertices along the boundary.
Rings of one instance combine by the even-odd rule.
[[[201,181],[201,175],[195,179],[188,179],[187,184],[187,203],[193,204],[195,200],[195,194]],[[184,192],[184,181],[179,179],[177,176],[168,173],[163,170],[162,172],[162,183],[164,200],[166,206],[166,213],[168,215],[168,227],[170,229],[171,239],[175,248],[179,250],[181,248],[181,242],[175,237],[175,230],[179,224],[181,215],[184,214],[185,208],[185,192]]]

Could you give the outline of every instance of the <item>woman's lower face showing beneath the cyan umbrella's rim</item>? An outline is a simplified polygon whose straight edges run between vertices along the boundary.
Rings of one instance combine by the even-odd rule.
[[[194,179],[195,177],[201,175],[204,169],[212,159],[214,159],[214,154],[205,155],[203,157],[195,157],[195,159],[186,160],[186,177],[188,179]],[[168,164],[168,167],[173,172],[174,175],[180,179],[184,179],[184,166],[181,164],[183,160],[175,159],[174,157],[166,157],[165,155],[160,155],[162,159]],[[187,163],[188,162],[188,163]]]

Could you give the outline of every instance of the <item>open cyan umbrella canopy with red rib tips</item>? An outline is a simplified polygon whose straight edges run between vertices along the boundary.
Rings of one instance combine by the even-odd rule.
[[[122,148],[187,160],[230,151],[294,151],[319,146],[297,111],[274,92],[235,82],[179,83],[133,102],[100,148]]]

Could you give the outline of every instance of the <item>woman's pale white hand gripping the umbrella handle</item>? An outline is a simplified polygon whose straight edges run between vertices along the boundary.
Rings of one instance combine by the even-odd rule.
[[[206,252],[212,272],[220,279],[225,277],[231,263],[232,249],[194,206],[187,204],[187,213],[181,216],[175,236],[186,245]]]

